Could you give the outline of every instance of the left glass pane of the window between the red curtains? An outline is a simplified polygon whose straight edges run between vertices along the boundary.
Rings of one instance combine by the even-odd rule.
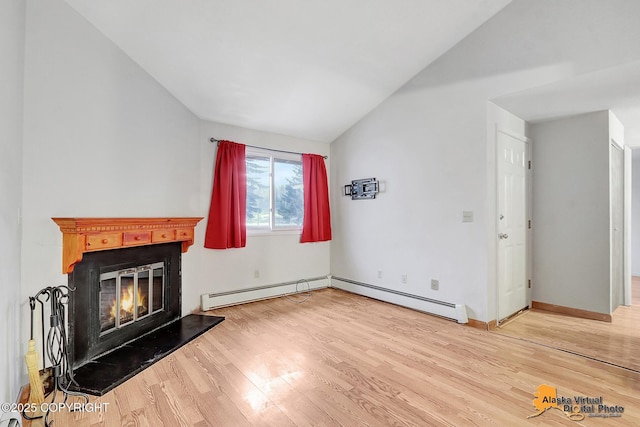
[[[246,157],[247,227],[269,228],[269,158]]]

